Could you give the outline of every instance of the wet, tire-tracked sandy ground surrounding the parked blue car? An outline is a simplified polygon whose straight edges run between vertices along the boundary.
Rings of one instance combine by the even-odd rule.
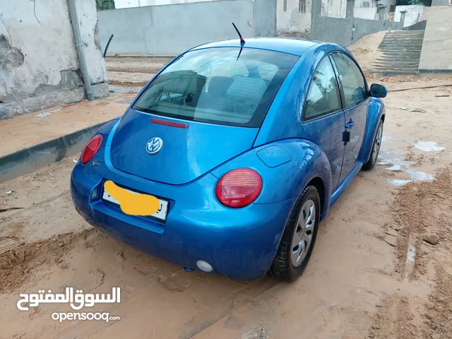
[[[385,102],[379,165],[333,206],[291,284],[187,273],[93,230],[71,204],[71,158],[0,184],[0,208],[22,208],[0,212],[0,338],[452,338],[452,88]],[[82,310],[121,320],[16,308],[19,293],[66,286],[121,287],[120,304]]]

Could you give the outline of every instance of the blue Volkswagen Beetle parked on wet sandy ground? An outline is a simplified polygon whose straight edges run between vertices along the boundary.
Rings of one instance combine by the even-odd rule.
[[[386,93],[336,44],[194,47],[88,142],[73,204],[102,232],[187,270],[295,280],[319,222],[376,163]],[[155,196],[159,209],[124,213],[106,181]]]

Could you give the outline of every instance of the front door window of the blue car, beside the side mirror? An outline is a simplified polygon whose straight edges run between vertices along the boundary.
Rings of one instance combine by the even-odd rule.
[[[355,106],[366,98],[366,81],[350,57],[343,53],[332,55],[344,91],[345,108]]]

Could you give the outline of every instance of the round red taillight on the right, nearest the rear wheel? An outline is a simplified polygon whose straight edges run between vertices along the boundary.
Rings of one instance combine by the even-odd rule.
[[[227,207],[244,207],[261,194],[262,179],[254,169],[237,168],[227,172],[218,181],[215,194]]]

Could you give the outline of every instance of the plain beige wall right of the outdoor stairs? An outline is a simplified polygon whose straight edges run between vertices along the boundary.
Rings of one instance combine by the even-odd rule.
[[[452,72],[452,6],[430,8],[419,69]]]

